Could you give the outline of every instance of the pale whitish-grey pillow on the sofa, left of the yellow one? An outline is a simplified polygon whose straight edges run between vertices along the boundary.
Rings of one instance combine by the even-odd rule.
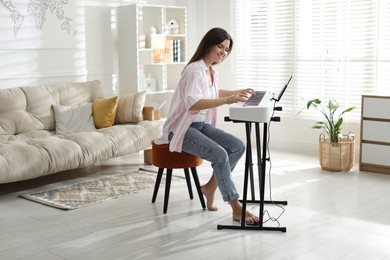
[[[53,105],[56,134],[96,131],[92,103],[75,106]]]

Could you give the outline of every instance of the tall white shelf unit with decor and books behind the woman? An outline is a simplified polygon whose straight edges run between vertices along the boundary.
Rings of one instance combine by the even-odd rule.
[[[174,19],[179,24],[177,34],[165,34],[165,24]],[[152,34],[151,28],[156,29]],[[181,71],[187,62],[187,10],[176,6],[125,5],[117,8],[118,30],[118,83],[119,95],[128,95],[143,90],[141,86],[143,72],[156,81],[156,91],[149,95],[173,92],[179,82]],[[164,58],[162,61],[154,59],[153,39],[165,41],[177,40],[180,42],[180,60],[173,62]],[[143,38],[140,40],[140,37]],[[154,40],[153,40],[154,41]],[[166,51],[164,46],[161,50]],[[170,52],[167,52],[169,55]],[[164,53],[165,54],[165,53]],[[156,56],[155,56],[156,57]],[[168,57],[168,56],[167,56]]]

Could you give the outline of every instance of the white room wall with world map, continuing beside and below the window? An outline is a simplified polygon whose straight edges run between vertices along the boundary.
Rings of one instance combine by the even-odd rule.
[[[25,17],[14,37],[10,11],[0,5],[0,88],[35,86],[45,83],[100,79],[106,95],[117,93],[116,32],[112,10],[118,5],[146,3],[186,6],[188,12],[188,55],[192,56],[201,37],[212,27],[223,27],[232,34],[232,0],[148,0],[148,1],[69,1],[64,6],[72,19],[72,31],[60,29],[60,22],[50,11],[42,30],[35,27],[34,17],[27,12],[27,3],[14,2]],[[234,52],[234,50],[233,50]],[[234,57],[217,66],[220,86],[236,87]],[[281,104],[283,105],[283,103]],[[311,129],[313,122],[284,118],[271,124],[271,148],[298,153],[317,154],[319,131]],[[244,139],[243,126],[223,121],[227,106],[219,108],[219,126]],[[358,124],[346,125],[345,131],[359,133]],[[359,140],[359,135],[357,135]],[[358,145],[356,145],[358,149]],[[357,150],[358,151],[358,150]],[[358,154],[358,152],[356,153]]]

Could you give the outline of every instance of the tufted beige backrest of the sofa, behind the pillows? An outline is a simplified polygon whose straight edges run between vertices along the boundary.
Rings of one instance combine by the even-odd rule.
[[[0,135],[55,129],[53,104],[76,105],[103,97],[100,81],[0,89]],[[3,138],[1,138],[3,139]]]

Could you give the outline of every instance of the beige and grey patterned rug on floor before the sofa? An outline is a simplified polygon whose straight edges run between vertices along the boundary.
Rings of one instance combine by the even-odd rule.
[[[62,210],[73,210],[149,189],[154,186],[156,176],[156,172],[140,168],[123,174],[32,192],[21,197]],[[178,179],[180,178],[172,176],[172,181]]]

